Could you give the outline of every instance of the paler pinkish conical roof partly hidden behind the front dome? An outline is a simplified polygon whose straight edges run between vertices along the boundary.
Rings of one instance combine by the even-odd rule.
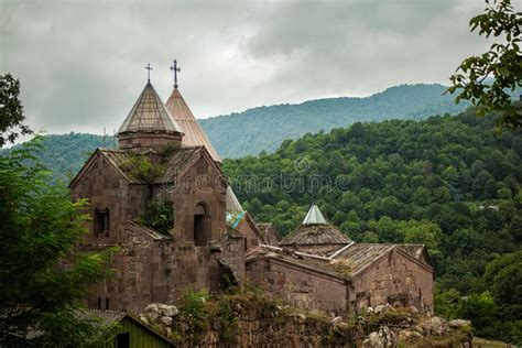
[[[183,138],[184,145],[203,145],[207,149],[214,161],[221,162],[221,159],[219,157],[218,153],[214,149],[213,144],[208,140],[207,135],[203,131],[202,127],[197,122],[177,88],[174,88],[171,96],[168,97],[166,101],[166,108],[168,112],[171,112],[176,124],[180,124],[181,130],[185,134]]]

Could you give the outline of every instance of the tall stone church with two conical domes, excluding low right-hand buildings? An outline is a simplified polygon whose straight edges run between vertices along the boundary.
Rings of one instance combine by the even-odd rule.
[[[117,137],[119,150],[98,149],[69,185],[90,203],[81,247],[120,248],[113,281],[97,286],[88,305],[137,313],[188,289],[216,291],[224,272],[241,280],[246,238],[227,225],[231,189],[177,88],[167,109],[148,83]],[[173,224],[163,233],[143,222],[153,204],[172,206]]]

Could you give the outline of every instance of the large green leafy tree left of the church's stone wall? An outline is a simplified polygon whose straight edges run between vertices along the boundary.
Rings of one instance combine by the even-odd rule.
[[[110,274],[108,254],[76,250],[86,202],[48,186],[37,149],[0,156],[0,346],[83,346],[100,327],[77,319],[76,302]]]

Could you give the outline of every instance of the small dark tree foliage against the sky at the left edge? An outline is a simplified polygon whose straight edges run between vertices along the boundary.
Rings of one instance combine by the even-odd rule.
[[[11,74],[0,75],[0,148],[7,142],[13,143],[21,134],[32,133],[22,124],[25,117],[19,95],[20,81]]]

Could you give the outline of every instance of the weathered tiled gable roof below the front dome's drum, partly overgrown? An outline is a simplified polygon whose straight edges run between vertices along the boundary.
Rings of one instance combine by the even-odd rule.
[[[166,159],[163,159],[163,172],[155,177],[154,183],[167,183],[176,178],[176,175],[183,173],[193,162],[194,157],[202,151],[203,146],[180,148],[172,150]],[[137,177],[131,177],[126,163],[135,156],[135,153],[123,150],[100,150],[104,156],[130,182],[144,183]],[[143,153],[143,155],[152,155],[152,152]],[[156,153],[157,154],[157,153]],[[161,156],[160,154],[157,154]]]

